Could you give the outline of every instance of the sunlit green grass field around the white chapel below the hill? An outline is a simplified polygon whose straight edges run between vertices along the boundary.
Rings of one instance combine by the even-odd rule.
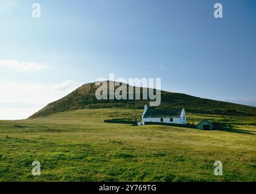
[[[112,124],[134,109],[81,109],[0,121],[0,181],[256,181],[256,119],[188,113],[231,129]],[[32,162],[41,176],[32,176]],[[223,162],[223,176],[214,162]]]

